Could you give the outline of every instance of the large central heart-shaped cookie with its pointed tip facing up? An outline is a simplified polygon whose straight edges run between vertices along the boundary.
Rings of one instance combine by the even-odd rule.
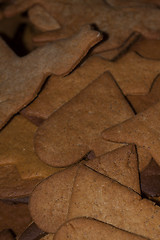
[[[116,82],[105,72],[38,128],[36,153],[45,163],[58,167],[74,164],[90,151],[100,156],[119,146],[102,139],[104,126],[131,116]]]

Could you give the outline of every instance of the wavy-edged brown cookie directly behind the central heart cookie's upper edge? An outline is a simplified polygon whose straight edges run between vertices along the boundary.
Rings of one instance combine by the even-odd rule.
[[[124,71],[124,68],[127,71]],[[146,94],[159,72],[159,63],[145,60],[134,52],[128,53],[116,62],[92,56],[65,78],[52,76],[35,101],[22,110],[22,114],[36,125],[40,125],[51,113],[107,70],[112,72],[125,94]],[[144,71],[147,72],[147,77]]]

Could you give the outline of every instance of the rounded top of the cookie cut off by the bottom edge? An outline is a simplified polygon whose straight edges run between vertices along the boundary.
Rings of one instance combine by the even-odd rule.
[[[70,240],[147,240],[91,218],[76,218],[62,225],[56,232],[54,240],[67,238]]]

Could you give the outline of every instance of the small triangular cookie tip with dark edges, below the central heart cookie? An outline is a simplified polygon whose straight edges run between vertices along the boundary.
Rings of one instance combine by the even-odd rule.
[[[141,193],[135,146],[128,145],[118,148],[99,158],[86,161],[84,164],[135,192]]]

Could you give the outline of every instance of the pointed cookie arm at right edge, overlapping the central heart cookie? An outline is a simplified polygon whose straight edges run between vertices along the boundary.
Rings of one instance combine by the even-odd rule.
[[[148,150],[160,165],[160,102],[103,132],[107,141],[134,143]]]

